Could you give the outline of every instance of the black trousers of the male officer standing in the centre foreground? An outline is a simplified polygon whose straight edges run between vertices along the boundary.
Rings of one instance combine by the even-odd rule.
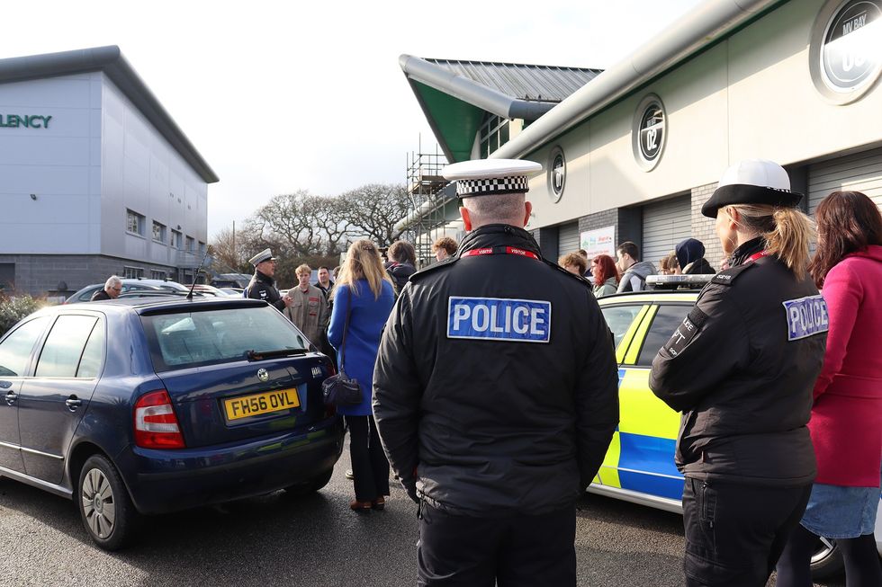
[[[576,584],[575,506],[540,516],[453,516],[419,506],[421,587]]]

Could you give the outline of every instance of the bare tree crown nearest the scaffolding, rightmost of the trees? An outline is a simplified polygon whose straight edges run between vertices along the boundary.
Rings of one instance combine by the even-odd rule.
[[[410,198],[403,184],[368,183],[339,197],[349,231],[379,246],[392,244],[393,227],[410,211]]]

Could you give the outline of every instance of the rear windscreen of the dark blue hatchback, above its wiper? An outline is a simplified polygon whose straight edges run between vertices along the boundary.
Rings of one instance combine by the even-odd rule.
[[[309,349],[272,307],[230,307],[141,316],[157,371],[247,359],[248,351]]]

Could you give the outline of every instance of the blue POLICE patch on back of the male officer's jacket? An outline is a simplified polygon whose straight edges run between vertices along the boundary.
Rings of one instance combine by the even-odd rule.
[[[447,338],[549,342],[551,302],[536,299],[447,299]]]

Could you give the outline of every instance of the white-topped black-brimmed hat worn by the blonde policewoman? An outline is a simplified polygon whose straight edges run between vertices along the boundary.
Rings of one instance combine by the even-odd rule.
[[[790,191],[788,173],[768,159],[745,159],[723,173],[714,195],[701,207],[707,218],[716,218],[716,211],[735,204],[767,204],[780,208],[796,208],[803,195]]]

